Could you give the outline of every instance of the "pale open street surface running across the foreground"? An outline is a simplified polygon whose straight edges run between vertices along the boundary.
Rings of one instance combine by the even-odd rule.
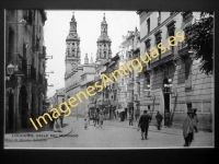
[[[66,117],[62,132],[54,132],[46,126],[42,131],[28,133],[39,141],[31,141],[33,138],[19,137],[19,132],[5,134],[7,148],[65,148],[65,149],[150,149],[150,148],[184,148],[182,129],[172,129],[150,126],[148,140],[141,140],[140,131],[137,131],[137,121],[134,126],[128,126],[128,121],[105,120],[103,128],[95,128],[91,121],[88,130],[84,130],[82,118],[77,120],[76,117]],[[25,134],[26,132],[20,132]],[[68,134],[68,136],[65,136]],[[14,141],[15,138],[20,141]],[[23,140],[22,140],[23,139]],[[30,140],[27,140],[30,139]],[[43,139],[43,140],[42,140]],[[212,147],[212,132],[199,131],[195,133],[195,141],[192,143],[196,147]]]

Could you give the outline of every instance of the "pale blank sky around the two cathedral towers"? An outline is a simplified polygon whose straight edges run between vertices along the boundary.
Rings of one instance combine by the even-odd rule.
[[[128,31],[140,31],[139,15],[136,11],[91,11],[91,10],[47,10],[47,21],[44,26],[44,42],[47,56],[53,56],[46,63],[48,73],[47,97],[53,96],[56,90],[65,87],[65,56],[66,56],[66,37],[69,33],[72,13],[77,21],[77,32],[80,36],[81,63],[84,63],[84,57],[88,52],[89,59],[91,54],[95,61],[96,40],[101,36],[101,22],[105,13],[107,22],[107,34],[112,40],[112,54],[115,56],[119,51],[119,45],[123,42],[123,35]]]

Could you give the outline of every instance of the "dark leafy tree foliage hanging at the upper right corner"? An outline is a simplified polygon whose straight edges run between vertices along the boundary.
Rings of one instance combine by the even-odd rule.
[[[201,12],[191,26],[185,27],[185,42],[194,51],[193,59],[200,60],[200,71],[212,74],[214,13]]]

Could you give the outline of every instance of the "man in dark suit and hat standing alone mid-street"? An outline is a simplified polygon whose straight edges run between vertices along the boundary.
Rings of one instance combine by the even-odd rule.
[[[148,139],[148,128],[149,124],[151,121],[151,116],[147,114],[147,110],[143,110],[143,115],[140,116],[139,122],[138,122],[138,130],[141,128],[141,140]]]

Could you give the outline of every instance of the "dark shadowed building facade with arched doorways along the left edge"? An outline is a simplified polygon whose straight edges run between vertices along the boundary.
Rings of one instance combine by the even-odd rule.
[[[44,10],[5,11],[5,130],[31,126],[46,98]],[[10,71],[11,70],[11,71]]]

